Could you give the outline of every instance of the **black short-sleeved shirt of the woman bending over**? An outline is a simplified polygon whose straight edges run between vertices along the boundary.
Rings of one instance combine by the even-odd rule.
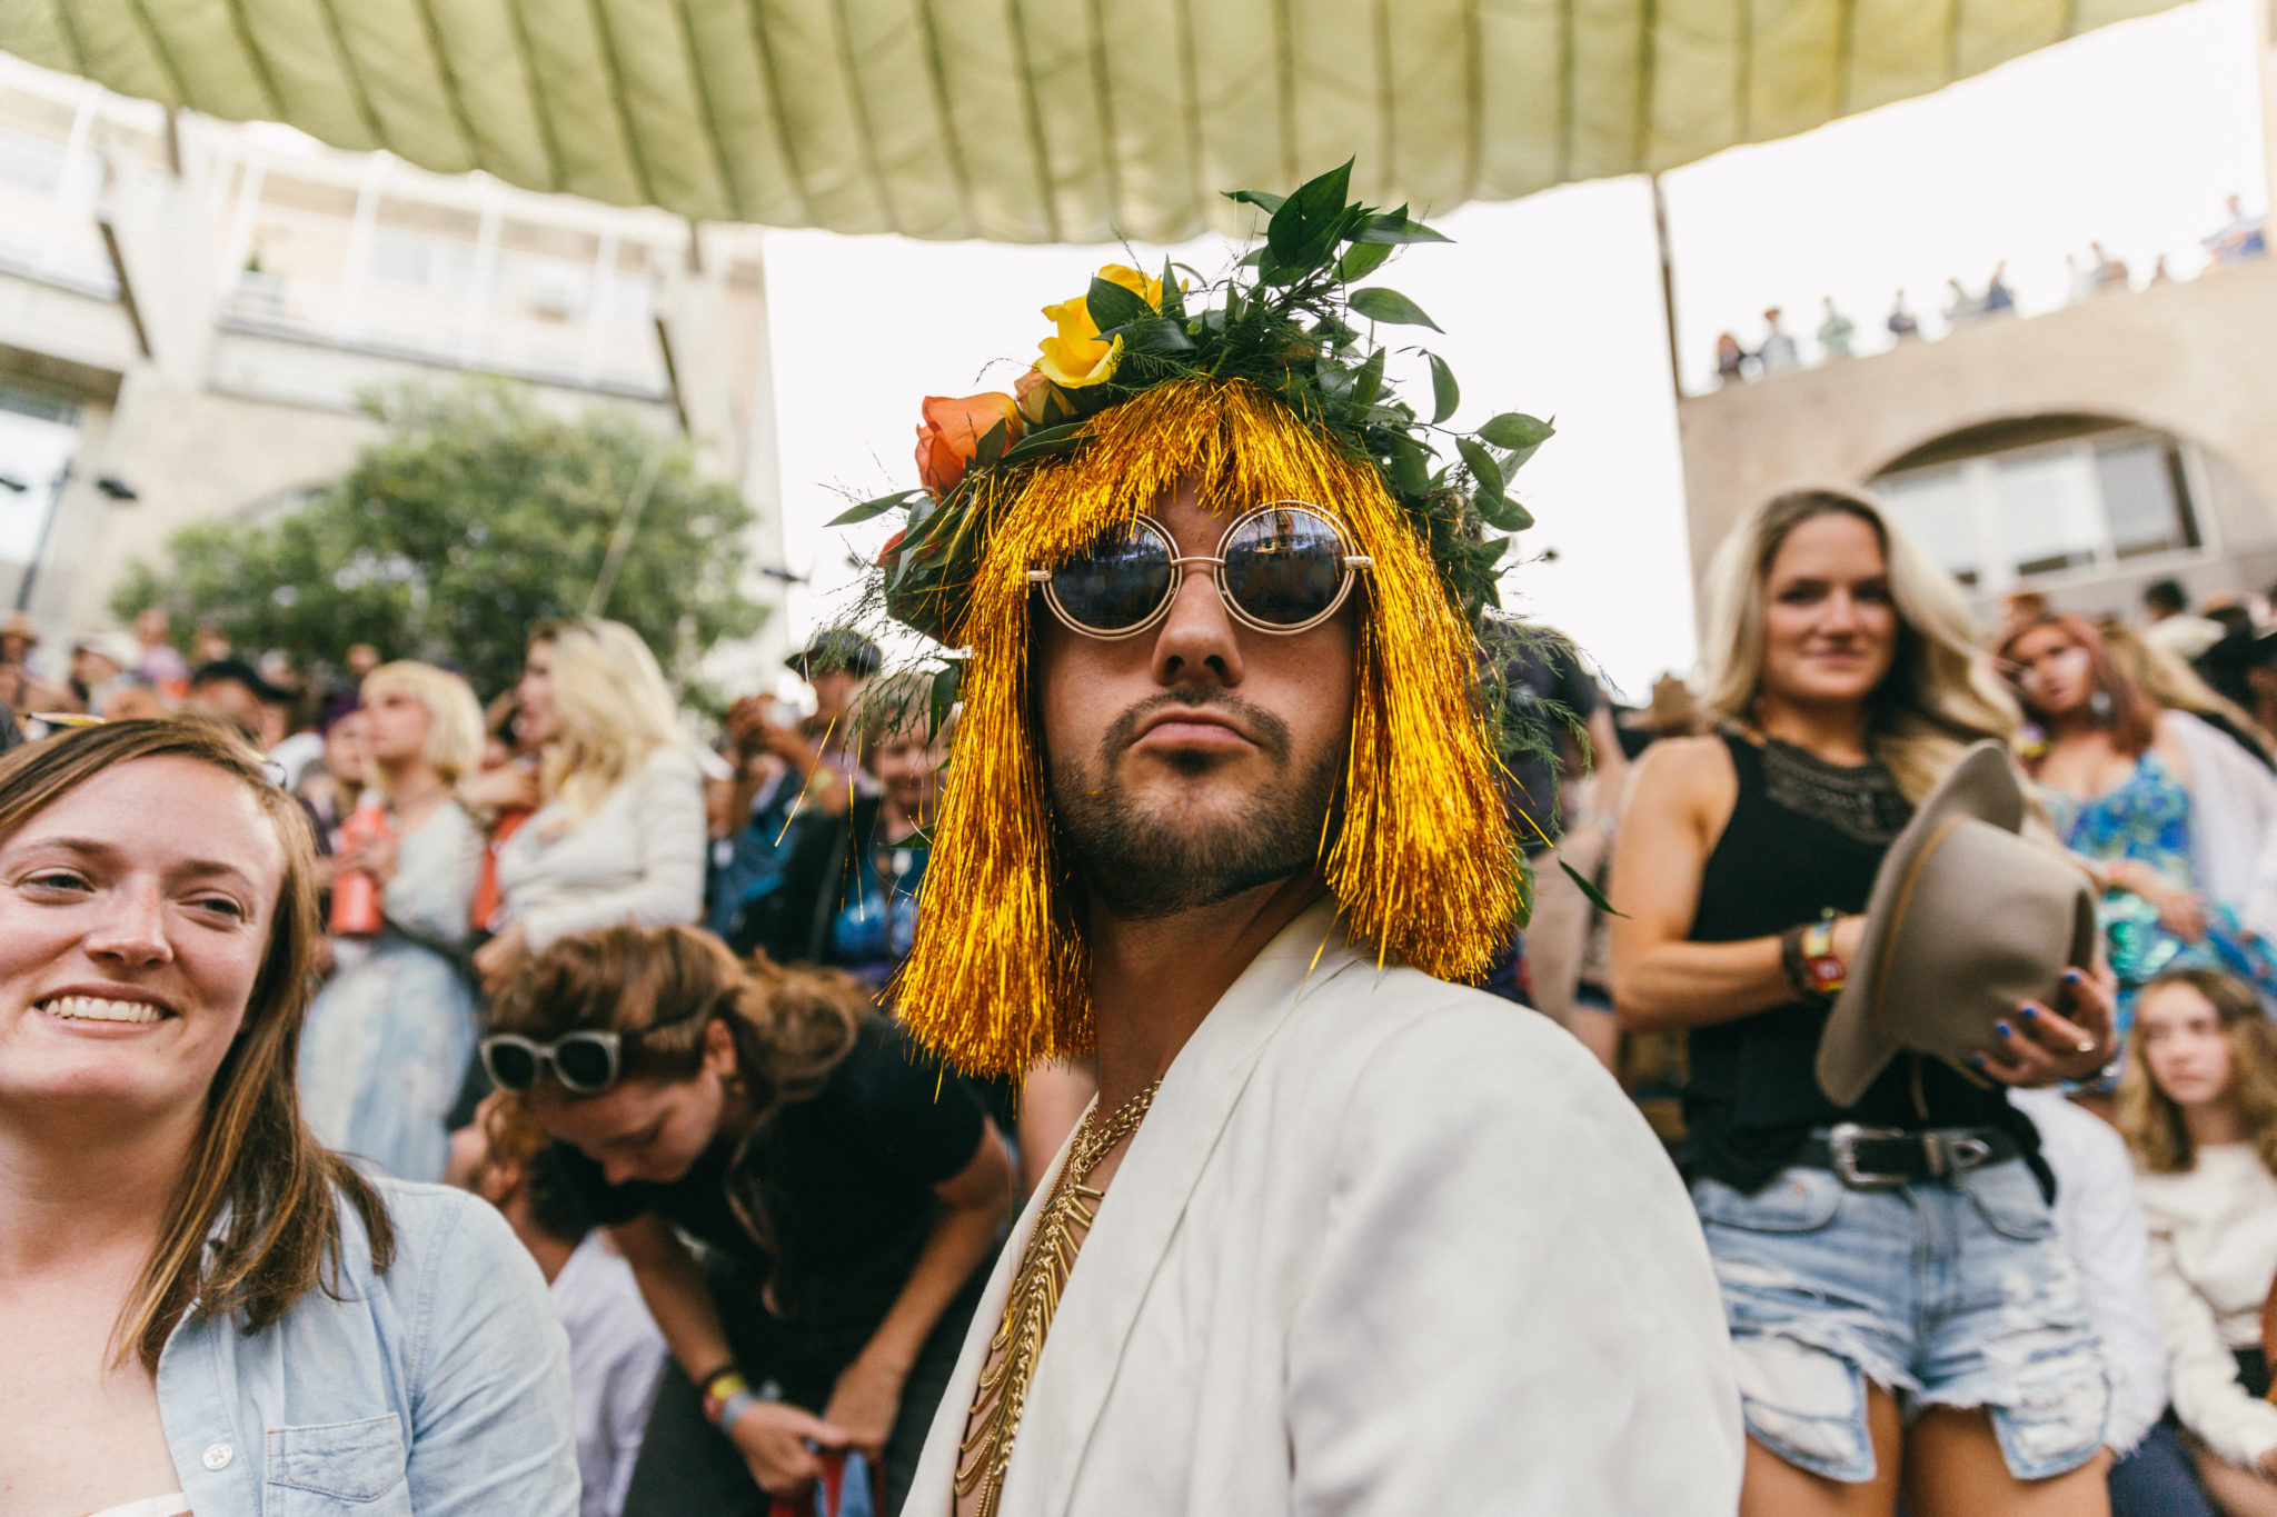
[[[934,1187],[981,1144],[981,1099],[883,1017],[811,1099],[786,1105],[729,1174],[717,1142],[679,1180],[610,1185],[556,1144],[562,1176],[601,1226],[663,1217],[697,1242],[772,1271],[776,1315],[817,1326],[877,1324],[940,1215]],[[735,1215],[729,1187],[761,1228]]]

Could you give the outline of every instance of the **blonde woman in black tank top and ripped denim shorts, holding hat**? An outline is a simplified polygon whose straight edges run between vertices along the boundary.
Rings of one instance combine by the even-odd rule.
[[[2099,1517],[2102,1356],[2001,1085],[2102,1069],[2104,987],[2020,1008],[1983,1080],[1901,1058],[1835,1108],[1812,1078],[1881,855],[2015,707],[1958,587],[1865,498],[1767,503],[1715,585],[1726,730],[1655,744],[1633,780],[1612,989],[1626,1026],[1692,1033],[1687,1169],[1740,1360],[1742,1517],[1885,1517],[1901,1494],[1910,1517]],[[1981,1162],[1933,1178],[1954,1151]]]

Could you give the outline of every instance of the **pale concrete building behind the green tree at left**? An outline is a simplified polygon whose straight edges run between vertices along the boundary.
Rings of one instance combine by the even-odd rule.
[[[168,123],[0,57],[0,391],[71,405],[77,428],[27,605],[50,646],[107,625],[118,578],[178,528],[342,475],[376,437],[357,398],[405,380],[499,373],[685,432],[754,507],[756,564],[781,564],[754,230],[296,139]],[[20,569],[0,564],[0,598]],[[715,678],[779,669],[786,639],[770,619]]]

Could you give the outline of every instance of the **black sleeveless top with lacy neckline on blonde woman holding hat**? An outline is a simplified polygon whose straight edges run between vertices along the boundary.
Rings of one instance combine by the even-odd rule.
[[[1724,735],[1740,796],[1701,871],[1690,942],[1772,937],[1833,910],[1863,912],[1890,842],[1913,807],[1881,764],[1842,769],[1787,744]],[[1815,1062],[1828,1005],[1790,1001],[1692,1028],[1685,1089],[1687,1167],[1737,1189],[1760,1189],[1812,1128],[1858,1121],[1881,1128],[1974,1128],[2013,1133],[2038,1169],[2038,1130],[1949,1064],[1901,1053],[1858,1105],[1819,1089]]]

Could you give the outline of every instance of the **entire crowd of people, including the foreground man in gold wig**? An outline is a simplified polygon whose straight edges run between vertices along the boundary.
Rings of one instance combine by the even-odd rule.
[[[1799,491],[1621,712],[1250,380],[959,491],[1068,389],[713,739],[0,630],[9,1510],[2277,1512],[2252,607]]]

